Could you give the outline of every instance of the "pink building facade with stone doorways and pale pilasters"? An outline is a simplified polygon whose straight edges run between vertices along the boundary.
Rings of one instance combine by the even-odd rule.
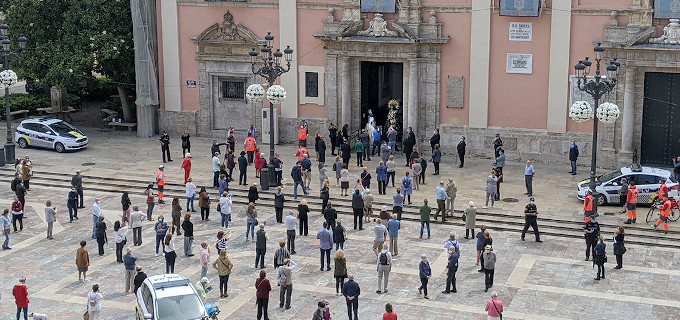
[[[629,164],[637,150],[667,164],[680,152],[680,45],[654,2],[543,0],[537,17],[518,17],[500,15],[498,0],[400,0],[394,13],[362,12],[360,0],[158,0],[159,125],[218,139],[232,125],[262,127],[267,101],[245,98],[264,83],[248,52],[271,32],[275,47],[295,50],[278,80],[288,93],[275,106],[280,142],[297,139],[301,119],[326,137],[330,122],[362,128],[368,110],[382,125],[394,99],[422,146],[439,128],[445,153],[464,135],[468,153],[491,155],[498,133],[509,158],[567,162],[575,139],[586,163],[592,122],[568,112],[594,102],[575,89],[573,65],[602,42],[605,65],[621,62],[604,100],[621,116],[600,127],[600,163]]]

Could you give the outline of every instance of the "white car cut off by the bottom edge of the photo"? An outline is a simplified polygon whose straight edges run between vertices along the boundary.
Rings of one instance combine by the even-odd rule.
[[[191,282],[178,274],[146,278],[137,289],[137,320],[207,320],[208,313]]]

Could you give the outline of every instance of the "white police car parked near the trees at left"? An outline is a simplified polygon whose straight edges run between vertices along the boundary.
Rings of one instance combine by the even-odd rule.
[[[87,136],[68,122],[56,118],[26,119],[14,132],[19,147],[41,147],[64,152],[87,147]]]

